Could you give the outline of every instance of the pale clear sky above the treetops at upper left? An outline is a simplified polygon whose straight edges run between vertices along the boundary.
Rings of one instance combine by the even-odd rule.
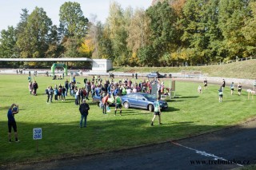
[[[0,0],[0,31],[7,30],[8,26],[16,27],[20,21],[22,9],[26,8],[30,14],[36,6],[42,7],[53,24],[58,26],[59,8],[65,2],[69,1]],[[78,2],[86,18],[90,19],[91,14],[94,14],[97,16],[97,21],[104,23],[109,14],[110,2],[113,2],[113,0],[70,0],[70,2]],[[151,5],[152,0],[114,0],[114,2],[118,2],[122,6],[122,9],[131,6],[133,9],[138,7],[146,10]]]

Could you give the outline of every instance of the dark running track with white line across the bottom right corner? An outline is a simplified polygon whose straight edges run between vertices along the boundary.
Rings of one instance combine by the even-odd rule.
[[[256,121],[250,121],[164,144],[9,169],[232,169],[256,164],[255,146]]]

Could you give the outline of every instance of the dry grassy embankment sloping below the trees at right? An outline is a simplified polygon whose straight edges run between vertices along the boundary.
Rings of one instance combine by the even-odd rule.
[[[180,73],[182,70],[202,71],[210,77],[256,78],[256,60],[234,62],[226,65],[204,65],[188,67],[114,67],[114,71],[148,73]]]

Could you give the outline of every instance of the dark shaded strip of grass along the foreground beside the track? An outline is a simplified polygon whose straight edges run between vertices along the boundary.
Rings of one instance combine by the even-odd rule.
[[[126,116],[136,111],[124,113]],[[145,113],[142,113],[145,114]],[[150,114],[150,113],[146,113]],[[195,125],[194,121],[170,122],[150,126],[151,120],[134,119],[133,117],[117,120],[102,119],[90,121],[87,128],[79,128],[78,121],[66,123],[24,123],[18,122],[20,143],[9,144],[6,138],[0,138],[1,164],[14,164],[26,160],[55,160],[83,156],[95,152],[110,152],[122,148],[133,148],[139,145],[158,143],[159,140],[177,140],[186,136],[209,132],[224,125]],[[6,121],[0,121],[0,125]],[[42,140],[39,141],[39,152],[36,152],[32,138],[33,128],[42,128]],[[4,136],[4,132],[0,132]],[[157,136],[155,134],[158,134]],[[133,140],[131,140],[131,137]],[[150,141],[150,142],[149,142]],[[15,160],[15,161],[14,161]],[[61,163],[60,163],[61,164]],[[56,164],[56,166],[60,166]],[[65,161],[62,162],[65,164]]]

